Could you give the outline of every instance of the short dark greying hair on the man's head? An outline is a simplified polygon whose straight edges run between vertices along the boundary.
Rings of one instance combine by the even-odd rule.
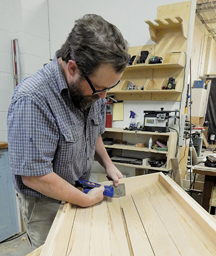
[[[127,43],[121,32],[96,14],[87,14],[75,21],[61,47],[61,57],[66,63],[74,60],[83,76],[91,75],[101,64],[109,64],[121,73],[129,61]]]

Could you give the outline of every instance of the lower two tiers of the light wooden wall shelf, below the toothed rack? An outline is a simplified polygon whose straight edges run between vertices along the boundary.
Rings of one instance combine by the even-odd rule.
[[[127,66],[120,84],[108,94],[118,94],[116,100],[129,100],[130,97],[131,100],[158,100],[159,98],[162,101],[179,101],[183,88],[185,52],[166,53],[162,64],[147,64],[151,56],[153,53],[149,53],[145,64],[135,63]],[[175,78],[175,89],[162,89],[166,88],[169,77]],[[128,90],[130,82],[133,82],[134,90]],[[141,86],[143,90],[140,90]]]

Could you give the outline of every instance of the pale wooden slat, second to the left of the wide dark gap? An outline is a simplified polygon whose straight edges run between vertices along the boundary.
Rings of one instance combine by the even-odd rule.
[[[109,240],[107,201],[103,200],[101,203],[93,206],[91,223],[92,226],[89,255],[110,256],[111,241]]]

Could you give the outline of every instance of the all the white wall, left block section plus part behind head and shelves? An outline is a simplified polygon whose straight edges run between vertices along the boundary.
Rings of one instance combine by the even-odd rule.
[[[194,1],[194,0],[193,0]],[[154,21],[157,8],[180,0],[0,0],[0,141],[7,141],[7,109],[14,90],[11,39],[19,40],[21,79],[43,67],[61,47],[74,20],[95,13],[121,30],[129,46],[151,44],[146,19]],[[174,110],[179,102],[124,102],[124,121],[129,124],[129,111],[137,110],[137,121],[143,122],[143,110]]]

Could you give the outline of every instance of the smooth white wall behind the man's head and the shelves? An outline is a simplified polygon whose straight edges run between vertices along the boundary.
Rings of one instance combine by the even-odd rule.
[[[84,14],[95,13],[115,24],[128,41],[128,46],[143,46],[153,44],[150,39],[149,26],[145,20],[154,21],[158,6],[184,2],[180,0],[125,1],[125,0],[65,0],[64,5],[58,0],[48,0],[50,52],[56,50],[65,42],[66,36],[74,26],[74,20]],[[167,14],[168,15],[168,14]],[[128,127],[130,110],[137,115],[137,122],[143,123],[143,110],[174,110],[179,109],[180,102],[124,101],[124,121],[113,122],[113,127]]]

